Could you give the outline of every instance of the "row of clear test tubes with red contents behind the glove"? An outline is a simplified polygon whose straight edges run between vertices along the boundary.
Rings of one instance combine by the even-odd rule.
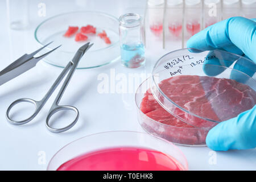
[[[146,47],[170,50],[185,48],[191,36],[221,20],[256,18],[256,0],[147,0],[145,12]]]

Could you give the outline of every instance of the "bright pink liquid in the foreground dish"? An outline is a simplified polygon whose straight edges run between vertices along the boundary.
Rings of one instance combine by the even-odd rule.
[[[62,164],[57,171],[171,170],[183,167],[171,156],[146,148],[108,148],[78,156]]]

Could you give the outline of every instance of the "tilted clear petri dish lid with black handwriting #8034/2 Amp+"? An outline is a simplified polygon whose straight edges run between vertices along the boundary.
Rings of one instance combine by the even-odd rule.
[[[256,104],[256,64],[221,50],[179,49],[154,65],[151,92],[170,114],[212,128]]]

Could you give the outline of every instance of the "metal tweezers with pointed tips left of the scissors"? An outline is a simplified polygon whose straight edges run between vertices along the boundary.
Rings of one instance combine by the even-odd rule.
[[[44,47],[46,47],[46,46],[44,46]],[[0,72],[0,85],[5,84],[6,82],[21,75],[22,73],[28,71],[29,69],[34,68],[39,60],[43,59],[43,57],[47,56],[49,53],[51,53],[52,51],[55,51],[55,49],[57,49],[59,47],[60,46],[52,49],[51,51],[49,51],[39,57],[33,57],[33,56],[36,53],[38,53],[40,50],[42,50],[43,48],[40,48],[37,51],[35,51],[29,55],[25,54],[25,55],[21,56],[19,59],[17,59],[13,63],[11,63],[9,66],[7,66],[5,69],[3,69]]]

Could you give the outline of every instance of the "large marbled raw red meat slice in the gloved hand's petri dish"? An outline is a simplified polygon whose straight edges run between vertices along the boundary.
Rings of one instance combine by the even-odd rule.
[[[226,78],[181,75],[161,81],[159,88],[180,107],[202,118],[220,122],[236,117],[256,104],[256,92],[253,89]],[[163,98],[159,97],[159,100]],[[143,127],[171,142],[203,144],[209,129],[216,125],[175,105],[169,109],[176,117],[163,109],[148,89],[141,102],[141,111],[147,117],[173,127],[152,125],[147,118],[143,119]],[[189,121],[193,126],[178,118]]]

